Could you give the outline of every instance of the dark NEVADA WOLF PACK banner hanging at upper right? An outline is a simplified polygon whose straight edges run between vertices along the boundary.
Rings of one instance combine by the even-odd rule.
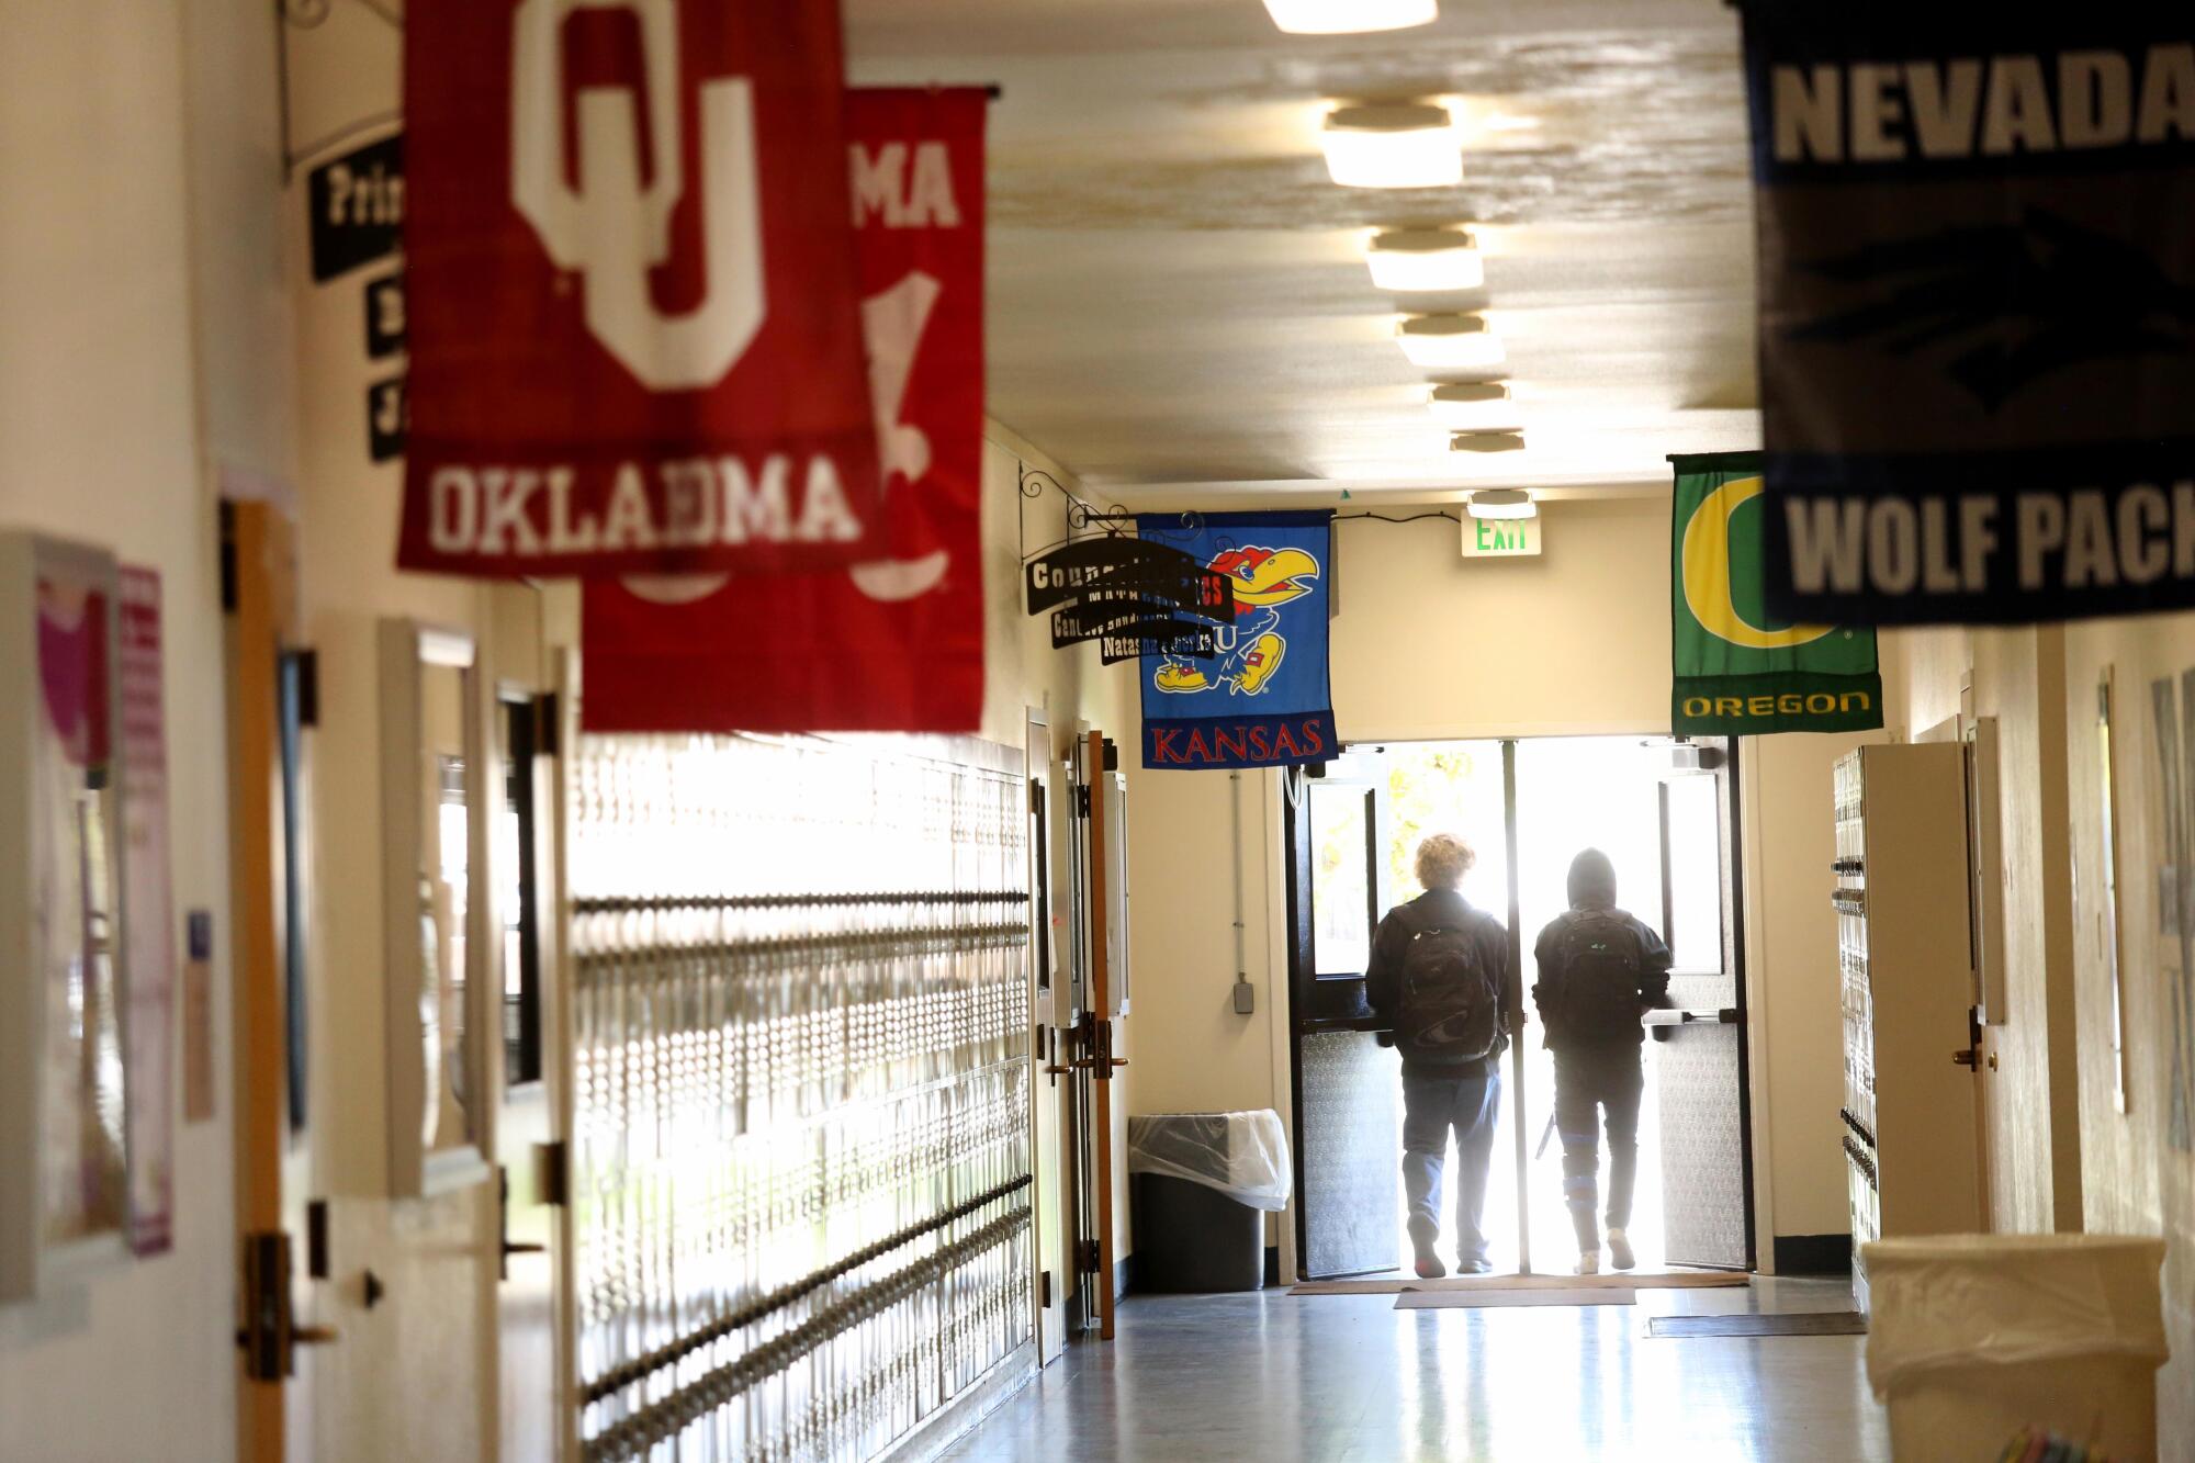
[[[1743,13],[1774,608],[2195,604],[2186,13]]]

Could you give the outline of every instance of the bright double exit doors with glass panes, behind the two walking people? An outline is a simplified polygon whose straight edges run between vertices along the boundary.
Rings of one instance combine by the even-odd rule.
[[[1554,1063],[1530,1013],[1532,945],[1569,907],[1569,861],[1600,848],[1620,903],[1670,942],[1655,1013],[1631,1237],[1642,1265],[1749,1267],[1743,982],[1730,747],[1541,738],[1352,747],[1288,802],[1297,1254],[1306,1276],[1394,1270],[1403,1237],[1398,1059],[1363,1002],[1372,931],[1420,890],[1418,844],[1477,855],[1464,898],[1510,929],[1521,973],[1484,1230],[1497,1267],[1569,1270]],[[1453,1261],[1455,1155],[1442,1250]],[[1602,1160],[1605,1162],[1605,1160]],[[1602,1184],[1607,1173],[1602,1171]],[[1605,1197],[1605,1191],[1602,1191]]]

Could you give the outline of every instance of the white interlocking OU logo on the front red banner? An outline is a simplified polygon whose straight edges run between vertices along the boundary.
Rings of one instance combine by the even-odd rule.
[[[648,68],[654,180],[641,185],[641,99],[593,86],[577,99],[579,187],[564,180],[564,20],[573,11],[632,11]],[[648,272],[669,259],[672,209],[685,198],[678,134],[676,0],[525,0],[511,42],[511,206],[558,268],[586,279],[586,327],[641,384],[700,391],[724,380],[766,312],[755,88],[746,77],[700,83],[700,187],[707,297],[665,316]]]

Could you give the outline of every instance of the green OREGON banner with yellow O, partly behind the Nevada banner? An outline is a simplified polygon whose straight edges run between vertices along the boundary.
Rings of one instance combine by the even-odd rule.
[[[1677,464],[1670,514],[1677,736],[1883,725],[1875,630],[1782,624],[1767,613],[1760,455],[1670,461]]]

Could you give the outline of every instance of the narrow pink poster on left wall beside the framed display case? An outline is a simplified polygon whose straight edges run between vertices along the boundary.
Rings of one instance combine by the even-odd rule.
[[[176,945],[167,846],[160,573],[121,571],[123,947],[130,1063],[130,1248],[171,1243],[176,1182]]]

